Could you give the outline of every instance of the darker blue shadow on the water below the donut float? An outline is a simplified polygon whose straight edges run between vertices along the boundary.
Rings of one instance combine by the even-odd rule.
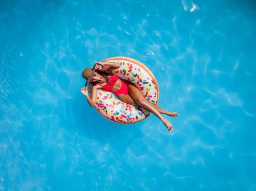
[[[90,140],[100,142],[100,144],[111,144],[113,148],[126,150],[126,147],[134,139],[143,136],[140,126],[144,122],[135,124],[118,124],[106,120],[94,108],[91,108],[84,96],[78,95],[71,103],[71,112],[74,117],[75,131]]]

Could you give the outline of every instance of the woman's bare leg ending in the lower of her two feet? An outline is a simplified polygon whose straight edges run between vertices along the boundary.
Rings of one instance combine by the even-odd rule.
[[[168,128],[169,131],[173,129],[172,124],[170,124],[170,122],[161,115],[160,111],[158,111],[158,109],[160,109],[160,108],[158,108],[156,105],[151,104],[148,100],[146,100],[138,88],[136,88],[134,85],[129,84],[128,92],[129,92],[130,97],[132,97],[132,99],[139,106],[151,111],[158,118],[160,118],[160,120],[166,125],[166,127]],[[162,111],[164,111],[164,110],[162,110]],[[167,111],[164,111],[164,112],[167,112]]]

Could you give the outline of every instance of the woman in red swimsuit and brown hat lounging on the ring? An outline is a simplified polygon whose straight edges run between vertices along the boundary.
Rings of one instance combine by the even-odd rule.
[[[95,62],[92,69],[86,68],[83,70],[82,76],[87,80],[86,86],[81,89],[81,92],[86,96],[90,106],[94,106],[96,103],[97,89],[103,88],[107,91],[115,93],[115,95],[124,103],[140,106],[151,111],[155,114],[169,131],[173,129],[172,124],[164,118],[161,114],[166,114],[172,117],[177,117],[176,112],[165,111],[158,108],[157,105],[152,104],[146,100],[141,94],[140,90],[133,85],[133,83],[120,79],[115,74],[111,73],[120,67],[120,64],[115,62]],[[89,97],[87,86],[89,82],[93,82],[92,97]]]

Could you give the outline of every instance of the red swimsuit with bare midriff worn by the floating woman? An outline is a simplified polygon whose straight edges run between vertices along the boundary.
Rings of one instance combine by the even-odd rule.
[[[107,91],[110,91],[110,92],[113,92],[116,95],[128,94],[128,85],[127,85],[127,81],[126,80],[120,79],[116,75],[111,75],[109,77],[110,77],[109,83],[106,83],[104,86],[101,85],[100,83],[97,83],[97,84],[99,84],[103,89],[105,89]],[[122,86],[121,86],[120,89],[118,89],[117,91],[114,92],[113,91],[113,86],[115,85],[117,80],[121,80]]]

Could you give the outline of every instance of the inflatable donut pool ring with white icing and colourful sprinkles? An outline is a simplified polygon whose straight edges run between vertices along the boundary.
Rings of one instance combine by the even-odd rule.
[[[159,90],[155,76],[143,63],[128,57],[112,57],[101,62],[116,62],[120,68],[113,70],[118,77],[132,82],[140,89],[145,99],[157,105]],[[89,95],[92,94],[92,83],[88,85]],[[140,107],[129,105],[117,99],[112,92],[98,89],[94,108],[107,120],[117,123],[135,123],[144,120],[151,113]]]

